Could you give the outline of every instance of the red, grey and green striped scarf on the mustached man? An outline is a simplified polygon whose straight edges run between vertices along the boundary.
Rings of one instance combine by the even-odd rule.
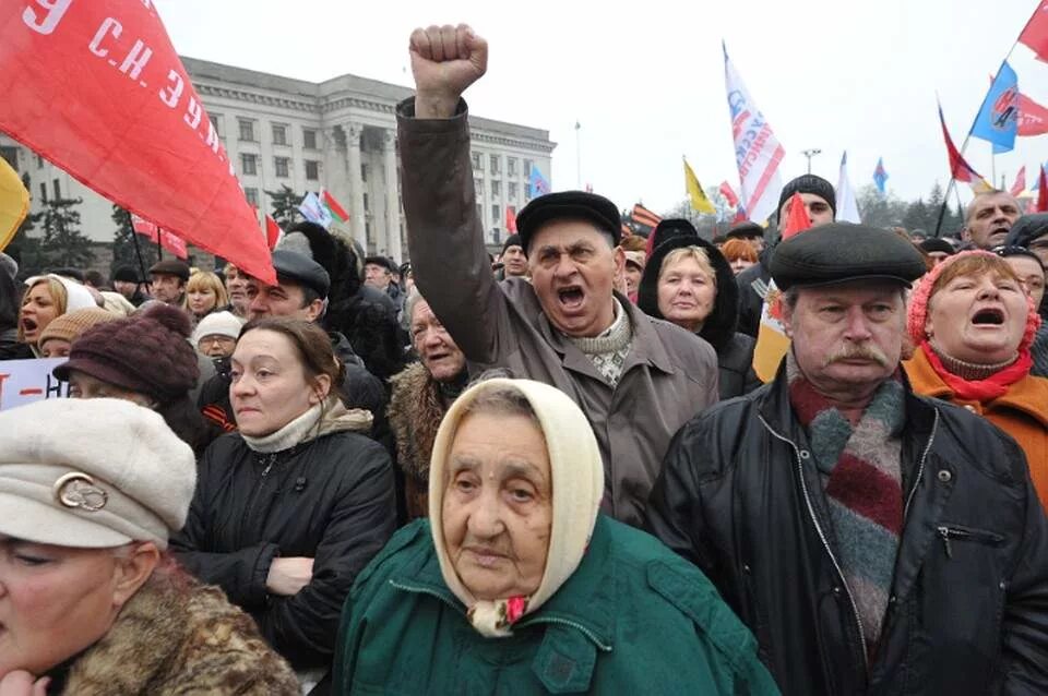
[[[789,400],[807,429],[833,521],[835,552],[872,659],[881,636],[903,529],[900,467],[904,388],[896,372],[853,428],[787,353]]]

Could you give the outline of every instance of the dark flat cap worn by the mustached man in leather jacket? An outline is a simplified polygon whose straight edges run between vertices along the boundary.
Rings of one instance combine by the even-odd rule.
[[[832,223],[779,242],[771,272],[779,290],[874,278],[908,286],[925,275],[925,260],[895,232]]]

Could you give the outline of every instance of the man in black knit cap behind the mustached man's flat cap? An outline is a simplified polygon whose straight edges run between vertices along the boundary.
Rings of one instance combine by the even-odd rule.
[[[837,217],[837,195],[833,184],[815,175],[801,175],[783,187],[778,196],[778,231],[782,233],[789,213],[789,202],[799,193],[805,202],[805,213],[812,227],[826,225]],[[739,284],[739,326],[743,334],[757,338],[761,326],[761,312],[764,309],[764,296],[767,295],[767,281],[772,278],[770,263],[774,245],[761,252],[760,263],[753,264],[736,276]]]

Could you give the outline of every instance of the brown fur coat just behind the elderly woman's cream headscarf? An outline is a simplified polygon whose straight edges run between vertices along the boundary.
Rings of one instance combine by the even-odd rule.
[[[404,473],[407,518],[429,515],[429,457],[448,407],[440,384],[420,362],[391,380],[390,429],[396,437],[396,463]]]

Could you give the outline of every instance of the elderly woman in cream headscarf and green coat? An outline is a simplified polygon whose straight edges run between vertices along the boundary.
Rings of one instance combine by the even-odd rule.
[[[698,568],[598,514],[600,454],[563,393],[473,386],[429,473],[429,518],[346,601],[336,693],[778,693]]]

